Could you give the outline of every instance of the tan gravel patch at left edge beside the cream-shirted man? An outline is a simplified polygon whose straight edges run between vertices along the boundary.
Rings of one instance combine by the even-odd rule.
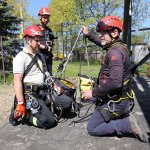
[[[13,97],[13,85],[0,85],[0,126],[8,123]]]

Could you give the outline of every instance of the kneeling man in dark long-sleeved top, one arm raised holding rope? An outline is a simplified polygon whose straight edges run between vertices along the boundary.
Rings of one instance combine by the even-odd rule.
[[[96,103],[96,110],[88,122],[87,130],[92,136],[132,133],[146,142],[135,118],[130,114],[133,106],[129,51],[121,39],[122,22],[116,16],[106,16],[97,25],[97,32],[89,32],[83,26],[83,34],[106,50],[101,64],[97,85],[82,91],[85,100]]]

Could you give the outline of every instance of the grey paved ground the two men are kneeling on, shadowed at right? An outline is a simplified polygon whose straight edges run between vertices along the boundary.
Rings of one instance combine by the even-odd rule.
[[[137,95],[134,116],[150,135],[150,78],[136,78]],[[83,112],[86,110],[84,107]],[[133,137],[92,137],[86,131],[87,122],[69,127],[72,120],[59,123],[53,129],[9,123],[0,127],[0,150],[149,150],[149,143],[141,143]]]

